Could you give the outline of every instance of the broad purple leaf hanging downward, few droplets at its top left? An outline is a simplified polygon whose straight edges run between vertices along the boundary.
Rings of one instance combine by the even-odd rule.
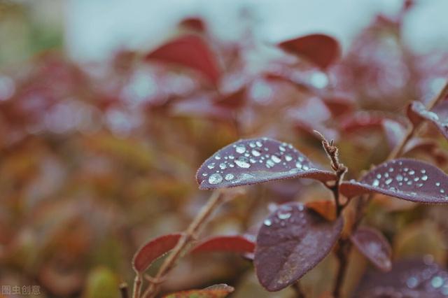
[[[300,203],[280,206],[258,232],[255,271],[261,285],[278,291],[295,283],[330,253],[343,220],[328,222]]]

